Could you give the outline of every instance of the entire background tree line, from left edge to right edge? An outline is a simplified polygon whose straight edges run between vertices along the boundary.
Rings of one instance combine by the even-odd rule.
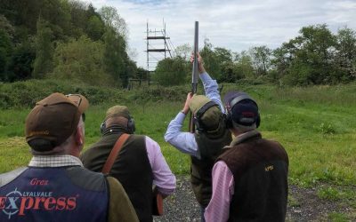
[[[127,87],[145,80],[127,46],[128,28],[113,7],[95,9],[79,0],[0,1],[0,82],[53,78]],[[153,80],[161,85],[190,81],[189,44],[158,62]],[[356,34],[326,24],[303,27],[277,49],[266,45],[231,52],[205,40],[206,70],[221,83],[241,80],[279,85],[349,83],[356,78]]]

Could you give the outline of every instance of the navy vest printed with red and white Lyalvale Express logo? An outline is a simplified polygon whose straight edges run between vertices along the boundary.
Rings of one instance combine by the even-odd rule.
[[[107,187],[82,167],[29,167],[0,187],[0,221],[107,221]]]

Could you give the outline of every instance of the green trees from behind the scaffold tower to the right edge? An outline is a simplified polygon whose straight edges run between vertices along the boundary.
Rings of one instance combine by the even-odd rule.
[[[177,47],[174,58],[160,61],[156,81],[164,85],[190,81],[190,52],[185,44]],[[244,79],[283,86],[349,83],[356,79],[356,34],[351,28],[340,28],[333,34],[326,24],[303,27],[299,36],[274,50],[262,45],[231,52],[214,47],[206,39],[200,53],[209,74],[223,83]]]

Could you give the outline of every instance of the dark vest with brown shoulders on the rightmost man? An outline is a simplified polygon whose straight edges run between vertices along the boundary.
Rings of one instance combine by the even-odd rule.
[[[287,153],[258,131],[247,133],[216,160],[227,164],[235,182],[228,221],[285,221]]]

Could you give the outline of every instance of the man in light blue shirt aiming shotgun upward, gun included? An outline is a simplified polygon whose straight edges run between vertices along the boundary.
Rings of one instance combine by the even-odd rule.
[[[198,44],[198,22],[196,22],[196,39]],[[218,91],[218,84],[206,73],[203,59],[196,53],[190,61],[198,69],[206,96],[189,92],[182,111],[169,123],[165,140],[184,154],[190,155],[190,182],[193,192],[201,207],[201,220],[212,194],[212,168],[215,158],[223,153],[223,147],[231,142],[231,133],[226,130],[223,120],[223,102]],[[194,65],[193,65],[193,73]],[[192,76],[192,88],[196,92],[198,76]],[[182,132],[185,116],[191,112],[190,132]],[[193,130],[193,127],[196,127]]]

